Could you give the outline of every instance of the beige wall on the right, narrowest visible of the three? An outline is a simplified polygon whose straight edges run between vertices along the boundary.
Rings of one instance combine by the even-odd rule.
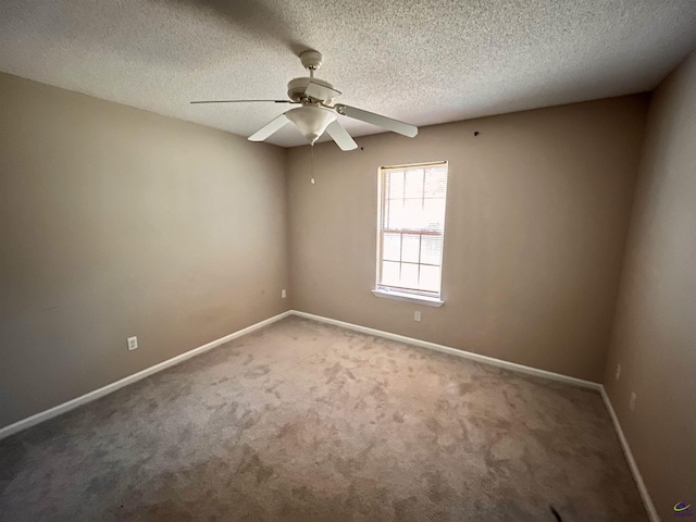
[[[662,520],[696,506],[696,53],[650,103],[605,382]]]

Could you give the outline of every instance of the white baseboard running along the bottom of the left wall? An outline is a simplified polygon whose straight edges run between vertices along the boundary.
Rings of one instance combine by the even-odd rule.
[[[194,348],[192,350],[182,353],[181,356],[173,357],[172,359],[167,359],[166,361],[154,364],[153,366],[146,368],[145,370],[138,373],[134,373],[133,375],[128,375],[127,377],[116,381],[115,383],[108,384],[107,386],[95,389],[94,391],[89,391],[85,395],[82,395],[72,400],[69,400],[67,402],[63,402],[62,405],[54,406],[53,408],[50,408],[45,411],[40,411],[39,413],[36,413],[32,417],[27,417],[26,419],[22,419],[21,421],[17,421],[13,424],[10,424],[8,426],[0,428],[0,439],[4,437],[9,437],[10,435],[21,432],[22,430],[26,430],[27,427],[34,426],[40,422],[52,419],[53,417],[60,415],[61,413],[65,413],[66,411],[73,410],[78,406],[90,402],[95,399],[103,397],[104,395],[109,395],[119,388],[123,388],[128,384],[133,384],[154,373],[161,372],[162,370],[173,366],[174,364],[178,364],[179,362],[190,359],[191,357],[196,357],[201,353],[204,353],[206,351],[211,350],[220,345],[224,345],[225,343],[228,343],[232,339],[236,339],[237,337],[241,337],[243,335],[247,335],[259,328],[263,328],[264,326],[275,323],[276,321],[279,321],[283,318],[287,318],[291,313],[293,312],[289,310],[286,312],[279,313],[264,321],[252,324],[251,326],[247,326],[246,328],[239,330],[233,334],[225,335],[220,339],[215,339],[213,341],[207,343],[203,346]]]

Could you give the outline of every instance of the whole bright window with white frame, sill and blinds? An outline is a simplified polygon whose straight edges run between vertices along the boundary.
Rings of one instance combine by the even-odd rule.
[[[447,162],[380,169],[377,297],[442,304]]]

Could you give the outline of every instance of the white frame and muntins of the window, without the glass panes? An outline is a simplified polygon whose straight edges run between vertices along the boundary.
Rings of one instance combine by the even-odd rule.
[[[428,232],[423,229],[408,229],[408,228],[394,228],[387,229],[383,228],[384,224],[384,212],[385,212],[385,195],[386,190],[386,179],[389,171],[398,171],[398,170],[409,170],[409,169],[427,169],[432,166],[444,166],[447,178],[445,185],[445,197],[444,199],[444,212],[443,212],[443,226],[440,232]],[[423,178],[423,184],[425,184],[425,176]],[[410,301],[410,302],[419,302],[422,304],[431,306],[431,307],[442,307],[444,304],[443,296],[443,263],[445,258],[445,222],[447,216],[447,183],[449,182],[449,163],[447,161],[428,161],[422,163],[409,163],[403,165],[389,165],[389,166],[380,166],[377,169],[377,251],[376,251],[376,270],[375,270],[375,286],[372,290],[375,297],[396,299],[401,301]],[[403,198],[407,199],[407,198]],[[424,200],[424,187],[421,192],[421,200]],[[422,263],[422,249],[419,248],[419,260],[418,262],[406,262],[407,264],[414,264],[419,268],[419,273],[422,265],[427,266],[437,266],[439,269],[439,288],[437,291],[428,291],[422,288],[407,288],[399,287],[393,285],[385,285],[382,283],[383,275],[383,264],[384,264],[384,235],[388,233],[401,234],[401,252],[403,249],[403,234],[412,234],[420,236],[420,240],[422,241],[423,236],[436,236],[442,238],[442,248],[439,254],[439,264],[432,263]],[[399,263],[405,263],[401,259]]]

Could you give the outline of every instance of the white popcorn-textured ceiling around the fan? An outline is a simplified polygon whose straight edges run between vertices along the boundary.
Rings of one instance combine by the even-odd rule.
[[[309,48],[338,101],[430,125],[649,90],[696,48],[696,1],[0,2],[1,71],[243,136],[288,107],[188,101],[285,98]]]

